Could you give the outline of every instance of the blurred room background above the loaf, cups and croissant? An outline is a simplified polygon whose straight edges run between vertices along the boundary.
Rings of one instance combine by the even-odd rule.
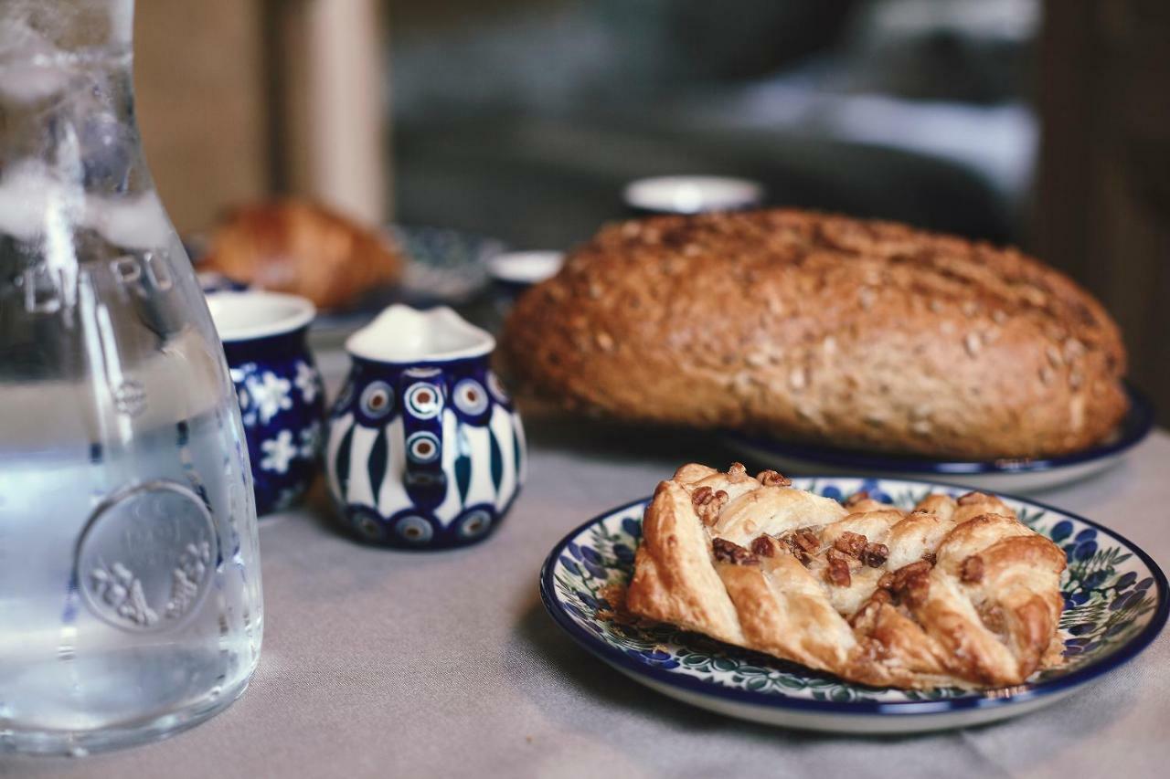
[[[1170,422],[1165,0],[151,0],[183,232],[273,193],[569,248],[631,179],[1014,243],[1121,323]]]

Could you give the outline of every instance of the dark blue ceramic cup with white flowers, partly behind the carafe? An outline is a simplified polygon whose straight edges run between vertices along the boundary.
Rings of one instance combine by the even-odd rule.
[[[264,291],[207,296],[240,400],[256,512],[300,501],[317,474],[325,391],[305,335],[312,303]]]

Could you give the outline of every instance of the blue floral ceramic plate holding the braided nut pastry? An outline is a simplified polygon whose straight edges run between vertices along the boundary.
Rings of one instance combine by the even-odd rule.
[[[966,488],[901,480],[807,477],[793,485],[844,498],[858,490],[909,509],[928,492]],[[1088,519],[1000,496],[1020,521],[1068,554],[1062,579],[1066,662],[1027,683],[994,690],[878,689],[737,649],[670,625],[641,628],[599,616],[605,592],[634,567],[647,499],[585,523],[557,544],[541,597],[578,643],[665,695],[753,722],[849,733],[920,732],[1014,717],[1071,695],[1137,655],[1166,621],[1166,579],[1145,552]]]

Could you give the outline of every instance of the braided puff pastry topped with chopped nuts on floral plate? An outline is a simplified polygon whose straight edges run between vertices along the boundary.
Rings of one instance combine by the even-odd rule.
[[[789,484],[680,468],[646,509],[626,607],[878,687],[1018,684],[1059,662],[1065,554],[998,498],[906,512]]]

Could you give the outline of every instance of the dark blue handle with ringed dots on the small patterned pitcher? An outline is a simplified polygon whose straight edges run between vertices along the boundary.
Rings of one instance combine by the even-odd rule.
[[[407,368],[399,380],[399,397],[407,490],[417,503],[438,503],[447,484],[442,469],[447,374],[439,367]]]

